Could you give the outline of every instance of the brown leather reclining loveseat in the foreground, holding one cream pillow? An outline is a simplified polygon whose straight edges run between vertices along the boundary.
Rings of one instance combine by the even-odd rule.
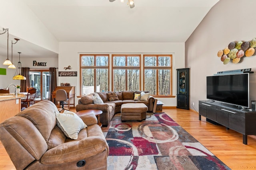
[[[95,115],[70,139],[56,125],[57,107],[41,101],[0,124],[0,140],[17,170],[107,169],[108,144]],[[82,167],[79,167],[82,166]]]

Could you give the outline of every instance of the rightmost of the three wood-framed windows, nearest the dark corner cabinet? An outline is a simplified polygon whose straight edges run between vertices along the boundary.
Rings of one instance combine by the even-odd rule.
[[[172,96],[172,55],[143,55],[144,90],[155,96]]]

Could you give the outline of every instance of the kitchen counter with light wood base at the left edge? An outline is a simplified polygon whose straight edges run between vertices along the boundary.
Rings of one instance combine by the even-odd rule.
[[[0,122],[16,115],[21,111],[21,98],[26,98],[24,94],[0,94]]]

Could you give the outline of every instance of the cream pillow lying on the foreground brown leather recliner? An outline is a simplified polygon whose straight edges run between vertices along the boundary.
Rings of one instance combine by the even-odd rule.
[[[74,112],[65,110],[64,113],[55,112],[57,126],[70,139],[77,139],[80,130],[87,127],[82,119]]]

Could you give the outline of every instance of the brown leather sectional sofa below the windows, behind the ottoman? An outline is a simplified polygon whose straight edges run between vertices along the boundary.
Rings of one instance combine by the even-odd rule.
[[[122,104],[126,103],[143,103],[148,107],[148,112],[155,113],[156,112],[156,104],[157,99],[153,96],[149,96],[148,100],[134,100],[134,94],[140,94],[141,92],[149,93],[149,91],[122,91],[116,92],[118,100],[109,101],[108,92],[94,92],[91,94],[87,94],[82,96],[78,100],[78,105],[76,105],[76,111],[86,110],[86,109],[100,109],[102,110],[102,114],[100,115],[100,122],[103,126],[108,126],[110,120],[114,116],[115,113],[119,113],[121,111]],[[94,104],[92,98],[94,98],[95,93],[97,93],[103,104]],[[89,97],[88,97],[89,96]]]

